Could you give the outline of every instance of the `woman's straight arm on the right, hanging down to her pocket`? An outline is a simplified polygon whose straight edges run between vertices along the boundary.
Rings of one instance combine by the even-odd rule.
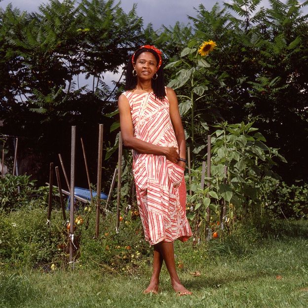
[[[169,100],[169,113],[171,122],[173,125],[173,129],[175,132],[175,137],[178,142],[179,154],[181,158],[186,159],[186,141],[185,141],[185,133],[182,124],[181,115],[179,112],[178,99],[173,89],[167,88],[167,97]],[[178,165],[185,168],[185,162],[179,161]]]

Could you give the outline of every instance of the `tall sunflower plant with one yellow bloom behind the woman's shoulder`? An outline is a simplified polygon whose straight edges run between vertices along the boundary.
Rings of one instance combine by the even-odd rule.
[[[204,136],[208,131],[204,107],[211,83],[223,86],[215,76],[215,69],[207,57],[216,48],[213,40],[199,42],[193,39],[185,47],[179,59],[168,63],[165,69],[176,71],[168,86],[178,89],[179,110],[184,119],[184,128],[193,154],[198,154],[205,147]]]

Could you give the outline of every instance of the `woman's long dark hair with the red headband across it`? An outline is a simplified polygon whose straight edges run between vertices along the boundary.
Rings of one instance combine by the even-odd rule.
[[[140,54],[145,51],[151,52],[152,54],[154,54],[157,64],[159,63],[159,57],[157,53],[154,50],[148,49],[148,48],[137,49],[137,51],[134,54],[134,61],[136,61],[137,58],[140,56]],[[125,79],[125,87],[124,87],[125,91],[132,90],[137,85],[137,76],[133,76],[133,70],[134,70],[134,66],[132,63],[132,56],[131,56],[126,66],[126,79]],[[152,78],[152,88],[153,88],[155,97],[158,97],[160,100],[163,100],[164,97],[166,96],[166,90],[165,90],[165,84],[164,84],[162,65],[160,66],[156,74],[157,74],[157,78],[156,79]]]

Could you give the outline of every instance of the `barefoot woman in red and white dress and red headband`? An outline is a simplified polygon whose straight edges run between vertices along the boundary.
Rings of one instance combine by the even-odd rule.
[[[154,247],[153,274],[144,293],[157,293],[165,261],[173,289],[192,294],[180,282],[173,241],[191,235],[186,218],[185,134],[175,92],[164,86],[161,52],[141,46],[126,71],[118,99],[124,145],[133,149],[137,203],[146,240]]]

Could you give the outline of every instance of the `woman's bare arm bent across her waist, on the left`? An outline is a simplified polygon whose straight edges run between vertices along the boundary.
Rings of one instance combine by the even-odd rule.
[[[120,114],[122,139],[126,147],[134,149],[139,153],[165,155],[168,160],[175,163],[178,162],[179,155],[176,148],[156,146],[134,137],[130,107],[125,95],[120,95],[118,99],[118,109]]]

